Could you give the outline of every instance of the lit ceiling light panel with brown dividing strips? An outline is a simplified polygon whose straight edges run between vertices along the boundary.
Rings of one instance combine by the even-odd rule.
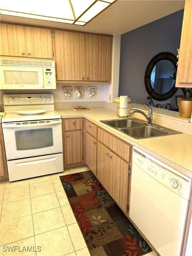
[[[1,0],[1,14],[84,26],[112,0]]]

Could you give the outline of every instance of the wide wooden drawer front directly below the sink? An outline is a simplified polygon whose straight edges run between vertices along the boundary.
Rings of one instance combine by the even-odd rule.
[[[131,160],[131,146],[127,143],[121,141],[110,133],[98,128],[98,140],[103,144],[117,153],[119,156],[124,158],[126,161],[130,162]]]

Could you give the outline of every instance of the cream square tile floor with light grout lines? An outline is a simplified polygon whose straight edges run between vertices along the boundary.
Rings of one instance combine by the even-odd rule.
[[[0,182],[0,255],[90,256],[59,176],[87,166],[22,181]],[[6,246],[6,247],[5,247]],[[8,246],[41,251],[8,252]],[[146,256],[154,256],[148,253]]]

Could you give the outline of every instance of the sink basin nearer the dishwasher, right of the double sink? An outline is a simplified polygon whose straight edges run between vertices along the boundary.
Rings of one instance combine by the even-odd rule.
[[[136,139],[150,138],[167,134],[166,131],[156,129],[151,126],[123,128],[121,131]]]

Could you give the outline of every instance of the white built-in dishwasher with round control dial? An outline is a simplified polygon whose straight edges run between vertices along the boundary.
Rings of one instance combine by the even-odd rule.
[[[130,218],[162,256],[182,253],[190,195],[189,177],[133,148]]]

